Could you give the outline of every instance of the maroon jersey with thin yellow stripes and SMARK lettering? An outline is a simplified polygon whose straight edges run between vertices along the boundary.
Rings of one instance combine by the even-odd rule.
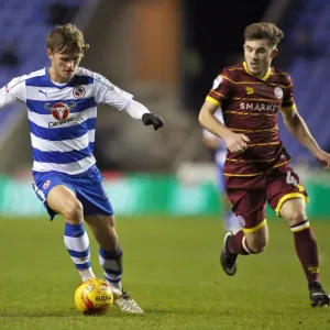
[[[233,155],[228,151],[224,175],[255,176],[290,162],[277,124],[280,109],[295,109],[288,74],[270,67],[264,77],[256,78],[245,62],[227,67],[213,81],[207,100],[221,106],[226,127],[250,139],[244,153]]]

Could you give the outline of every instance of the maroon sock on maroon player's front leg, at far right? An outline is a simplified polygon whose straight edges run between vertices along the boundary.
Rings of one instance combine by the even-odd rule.
[[[308,283],[319,280],[319,255],[318,246],[315,240],[308,220],[305,220],[294,227],[292,232],[295,238],[296,252],[306,274]]]

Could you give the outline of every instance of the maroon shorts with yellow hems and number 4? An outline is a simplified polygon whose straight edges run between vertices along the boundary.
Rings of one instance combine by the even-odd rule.
[[[288,165],[272,168],[257,176],[226,176],[226,190],[245,232],[254,232],[265,223],[266,202],[279,216],[282,205],[308,195],[299,176]]]

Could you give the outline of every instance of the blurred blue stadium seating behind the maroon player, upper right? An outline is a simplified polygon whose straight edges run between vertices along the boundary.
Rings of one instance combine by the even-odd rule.
[[[306,120],[318,143],[329,152],[330,130],[330,3],[322,0],[305,0],[296,14],[295,25],[287,33],[294,61],[288,72],[295,84],[295,98],[299,112]],[[309,152],[290,136],[280,121],[282,140],[296,162],[316,164]],[[297,157],[298,155],[298,157]]]

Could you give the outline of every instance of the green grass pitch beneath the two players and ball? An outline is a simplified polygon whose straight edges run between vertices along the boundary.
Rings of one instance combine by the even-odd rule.
[[[63,244],[63,221],[0,220],[0,329],[330,329],[330,309],[312,309],[292,234],[271,221],[261,255],[222,274],[220,222],[212,218],[118,218],[127,290],[145,310],[84,317],[74,306],[79,276]],[[330,222],[315,222],[321,277],[330,289]],[[94,239],[94,270],[101,277]]]

